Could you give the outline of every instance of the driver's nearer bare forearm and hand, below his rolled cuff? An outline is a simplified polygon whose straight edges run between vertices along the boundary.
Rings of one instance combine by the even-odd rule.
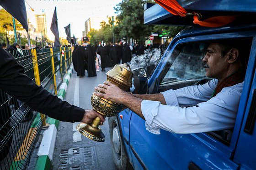
[[[127,93],[122,89],[118,88],[116,85],[111,82],[103,82],[104,84],[99,84],[98,87],[95,87],[96,90],[102,93],[94,94],[101,98],[106,98],[115,103],[120,103],[130,108],[133,112],[137,113],[141,118],[145,119],[141,112],[141,98],[133,96],[131,93]]]

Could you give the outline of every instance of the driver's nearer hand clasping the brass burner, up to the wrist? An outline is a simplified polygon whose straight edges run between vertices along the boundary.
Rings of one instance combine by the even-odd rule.
[[[106,98],[107,100],[110,100],[115,103],[123,103],[123,99],[126,98],[126,96],[129,94],[125,91],[123,91],[121,88],[118,88],[116,85],[114,85],[111,82],[103,82],[104,84],[99,84],[98,87],[95,87],[96,90],[102,92],[102,93],[96,93],[93,94],[100,97],[100,98]]]

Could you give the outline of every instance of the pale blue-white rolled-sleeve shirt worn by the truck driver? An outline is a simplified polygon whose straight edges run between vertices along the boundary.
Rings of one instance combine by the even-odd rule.
[[[167,105],[143,100],[146,129],[153,134],[160,134],[160,129],[191,134],[233,128],[244,82],[223,88],[211,98],[217,82],[213,79],[203,85],[165,91],[162,94]]]

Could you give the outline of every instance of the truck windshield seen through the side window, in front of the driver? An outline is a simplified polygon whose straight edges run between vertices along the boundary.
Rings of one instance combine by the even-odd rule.
[[[208,82],[210,79],[205,76],[205,69],[202,67],[207,47],[207,42],[197,42],[177,50],[169,71],[160,82],[159,92],[195,85],[204,79],[204,83]]]

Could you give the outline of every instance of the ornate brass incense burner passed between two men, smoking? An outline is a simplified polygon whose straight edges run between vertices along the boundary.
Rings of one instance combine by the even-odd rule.
[[[132,87],[133,72],[127,64],[117,64],[107,73],[107,82],[112,82],[117,87],[127,90]],[[97,90],[95,92],[101,93]],[[105,98],[100,98],[92,94],[91,96],[92,108],[102,114],[103,116],[112,117],[116,116],[123,109],[122,104],[111,102]],[[89,139],[104,142],[105,135],[101,131],[99,124],[100,118],[94,118],[91,124],[80,123],[76,126],[76,129]]]

